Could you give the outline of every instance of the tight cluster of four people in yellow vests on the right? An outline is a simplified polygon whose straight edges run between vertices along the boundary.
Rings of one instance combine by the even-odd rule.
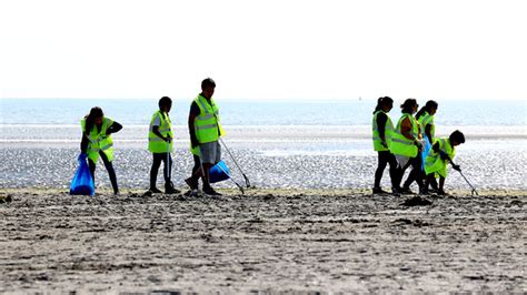
[[[372,120],[374,150],[378,153],[374,194],[387,193],[380,187],[380,181],[388,164],[394,194],[411,194],[414,182],[419,186],[419,194],[446,194],[447,164],[460,171],[453,160],[455,146],[465,143],[465,135],[456,130],[448,138],[437,139],[434,115],[438,103],[430,100],[417,111],[418,106],[415,99],[407,99],[400,105],[401,116],[394,126],[388,115],[394,100],[389,96],[378,99]],[[410,166],[411,171],[401,186],[405,171]],[[439,185],[436,177],[439,177]]]

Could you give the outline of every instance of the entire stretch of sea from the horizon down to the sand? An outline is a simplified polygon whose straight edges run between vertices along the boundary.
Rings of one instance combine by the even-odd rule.
[[[424,105],[426,101],[418,101]],[[459,129],[467,138],[457,161],[481,189],[527,189],[525,101],[440,101],[437,135]],[[191,167],[188,152],[188,110],[191,100],[175,100],[172,153],[175,182]],[[377,164],[371,144],[376,102],[354,101],[232,101],[217,99],[225,143],[241,163],[252,184],[260,187],[370,187]],[[396,101],[389,113],[400,116]],[[79,153],[79,121],[92,106],[125,128],[113,134],[116,170],[121,185],[147,187],[150,155],[146,151],[148,123],[157,99],[3,99],[0,104],[1,186],[59,186],[69,184]],[[235,177],[240,174],[223,149]],[[102,166],[102,165],[100,165]],[[102,169],[103,170],[103,169]],[[447,185],[464,189],[450,172]],[[99,170],[97,180],[107,185]],[[382,184],[388,185],[385,174]],[[229,186],[229,183],[220,184]]]

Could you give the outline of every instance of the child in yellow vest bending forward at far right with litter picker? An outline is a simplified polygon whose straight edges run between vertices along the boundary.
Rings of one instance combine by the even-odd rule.
[[[459,165],[453,162],[454,156],[456,156],[456,146],[461,143],[465,143],[465,135],[458,130],[454,131],[448,139],[436,140],[425,160],[425,173],[427,175],[425,187],[428,187],[428,183],[434,177],[439,177],[438,194],[446,195],[444,185],[447,177],[447,163],[450,162],[455,170],[461,171]]]

